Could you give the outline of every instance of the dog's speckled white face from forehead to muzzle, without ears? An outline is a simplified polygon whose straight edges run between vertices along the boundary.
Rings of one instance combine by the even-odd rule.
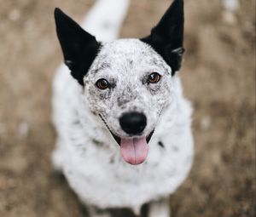
[[[148,136],[172,94],[172,71],[154,49],[137,39],[120,39],[102,46],[84,77],[84,96],[119,138]],[[132,113],[145,126],[128,129],[122,117]],[[143,125],[143,123],[142,123]]]

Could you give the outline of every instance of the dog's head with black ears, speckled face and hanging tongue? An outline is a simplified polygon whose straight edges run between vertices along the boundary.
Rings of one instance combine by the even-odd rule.
[[[148,37],[98,43],[60,9],[57,35],[90,111],[102,118],[126,162],[143,163],[161,111],[172,103],[172,76],[183,55],[183,1],[175,0]]]

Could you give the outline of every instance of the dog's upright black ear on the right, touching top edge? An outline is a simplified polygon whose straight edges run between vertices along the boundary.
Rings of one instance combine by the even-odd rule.
[[[181,67],[183,57],[183,0],[174,0],[148,37],[141,40],[156,50],[172,68],[172,75]]]

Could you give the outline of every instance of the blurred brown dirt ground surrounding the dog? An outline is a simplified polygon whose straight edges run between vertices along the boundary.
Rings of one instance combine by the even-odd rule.
[[[0,216],[76,217],[49,162],[51,81],[62,60],[53,10],[81,20],[92,0],[0,0]],[[148,34],[170,0],[131,0],[121,37]],[[221,1],[186,0],[180,76],[194,112],[195,163],[172,216],[255,216],[255,2],[233,19]],[[120,214],[119,216],[126,216]]]

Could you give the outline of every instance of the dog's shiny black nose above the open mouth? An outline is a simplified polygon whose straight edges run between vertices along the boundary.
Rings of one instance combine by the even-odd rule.
[[[147,125],[147,117],[143,113],[127,112],[119,118],[121,128],[127,134],[140,134]]]

